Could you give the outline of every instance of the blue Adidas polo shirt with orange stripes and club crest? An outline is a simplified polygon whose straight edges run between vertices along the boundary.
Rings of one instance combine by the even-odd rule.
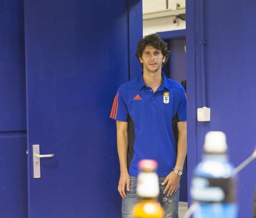
[[[157,174],[167,176],[176,164],[172,120],[186,121],[186,92],[181,84],[162,73],[163,82],[154,93],[142,74],[121,85],[114,98],[110,117],[134,122],[135,140],[129,175],[138,176],[138,161],[155,159]]]

